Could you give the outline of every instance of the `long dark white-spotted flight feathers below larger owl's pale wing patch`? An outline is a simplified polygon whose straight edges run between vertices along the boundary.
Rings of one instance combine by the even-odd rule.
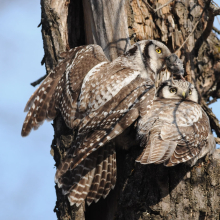
[[[100,108],[94,117],[88,115],[84,119],[85,121],[83,120],[79,126],[82,141],[79,141],[80,145],[74,152],[75,167],[90,153],[120,135],[138,118],[139,109],[137,106],[140,99],[143,94],[153,88],[152,85],[143,82],[137,77],[131,84],[123,88],[121,93],[111,99],[110,103],[107,102],[106,106]],[[141,83],[141,86],[137,87],[137,83]],[[111,110],[107,111],[106,108]]]

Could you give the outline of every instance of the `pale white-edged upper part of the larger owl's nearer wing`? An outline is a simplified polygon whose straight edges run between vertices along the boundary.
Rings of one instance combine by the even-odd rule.
[[[79,111],[87,114],[96,112],[139,75],[139,71],[123,64],[122,57],[111,63],[97,65],[83,81]]]

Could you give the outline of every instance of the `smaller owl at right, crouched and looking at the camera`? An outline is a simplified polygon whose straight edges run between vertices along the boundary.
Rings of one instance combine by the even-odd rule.
[[[215,150],[209,118],[198,104],[196,88],[184,80],[168,80],[156,91],[151,111],[138,121],[145,147],[137,162],[191,166]]]

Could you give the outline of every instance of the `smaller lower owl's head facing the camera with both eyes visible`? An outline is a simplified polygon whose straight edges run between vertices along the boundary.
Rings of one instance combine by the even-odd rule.
[[[184,80],[167,80],[156,91],[156,99],[179,99],[198,103],[198,92],[193,84]]]

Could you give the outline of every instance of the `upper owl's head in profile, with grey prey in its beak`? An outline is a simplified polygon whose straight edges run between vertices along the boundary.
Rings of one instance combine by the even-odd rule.
[[[129,61],[127,65],[132,64],[131,68],[140,71],[141,77],[151,78],[157,86],[173,75],[183,78],[182,61],[159,41],[139,41],[125,53],[125,57]]]

